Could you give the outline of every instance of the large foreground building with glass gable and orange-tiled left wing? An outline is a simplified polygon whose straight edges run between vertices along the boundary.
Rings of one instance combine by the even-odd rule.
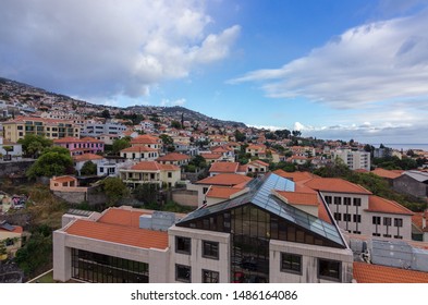
[[[351,282],[353,254],[327,212],[305,212],[273,191],[276,174],[188,215],[130,207],[65,215],[53,232],[53,279],[86,282]],[[319,209],[327,211],[322,202]]]

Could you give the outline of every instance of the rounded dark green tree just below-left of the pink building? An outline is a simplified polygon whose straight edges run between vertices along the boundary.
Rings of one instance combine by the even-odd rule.
[[[73,173],[73,160],[70,151],[63,147],[51,147],[44,150],[36,162],[27,170],[29,179]]]

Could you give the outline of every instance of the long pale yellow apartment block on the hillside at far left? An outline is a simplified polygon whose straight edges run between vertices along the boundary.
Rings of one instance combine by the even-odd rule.
[[[26,134],[41,135],[47,138],[62,138],[66,136],[80,137],[81,129],[72,121],[17,117],[3,122],[3,137],[11,142],[24,138]]]

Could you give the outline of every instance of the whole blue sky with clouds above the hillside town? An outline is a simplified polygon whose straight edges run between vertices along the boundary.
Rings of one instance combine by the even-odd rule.
[[[428,1],[2,0],[0,76],[94,103],[428,143]]]

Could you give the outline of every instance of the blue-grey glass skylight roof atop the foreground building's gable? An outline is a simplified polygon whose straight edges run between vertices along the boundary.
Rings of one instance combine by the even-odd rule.
[[[252,203],[264,210],[268,210],[271,213],[278,215],[282,219],[295,223],[298,227],[323,236],[341,246],[345,246],[335,225],[288,205],[272,195],[273,190],[294,192],[294,182],[274,173],[270,173],[264,179],[255,179],[250,181],[246,186],[250,188],[248,193],[220,204],[201,207],[187,215],[181,222],[186,222],[221,210],[228,210]]]

